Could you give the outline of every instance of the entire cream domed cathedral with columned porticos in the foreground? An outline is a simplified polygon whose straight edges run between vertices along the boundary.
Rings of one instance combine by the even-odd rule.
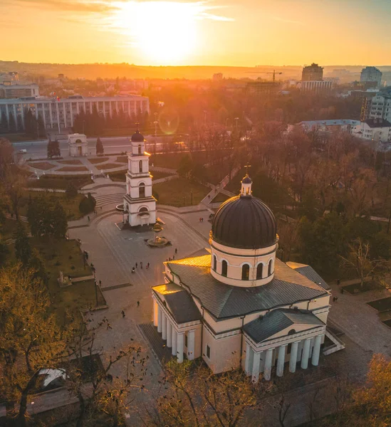
[[[276,258],[276,219],[251,184],[246,175],[220,206],[209,254],[166,262],[152,299],[154,325],[179,363],[202,357],[214,373],[242,367],[256,382],[316,366],[322,347],[330,354],[343,343],[326,330],[330,288],[309,265]]]

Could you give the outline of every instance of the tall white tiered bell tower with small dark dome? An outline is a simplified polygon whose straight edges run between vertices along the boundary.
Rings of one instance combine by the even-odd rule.
[[[145,152],[145,139],[140,132],[131,139],[127,153],[126,194],[124,196],[123,222],[135,226],[155,224],[156,199],[152,196],[150,154]]]

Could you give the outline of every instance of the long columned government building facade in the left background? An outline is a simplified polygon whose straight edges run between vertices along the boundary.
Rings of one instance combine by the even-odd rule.
[[[150,112],[150,100],[139,95],[114,97],[82,97],[80,95],[68,98],[22,97],[19,99],[0,100],[0,120],[3,115],[9,122],[10,115],[14,116],[18,130],[24,129],[24,112],[31,110],[33,114],[41,115],[46,129],[61,129],[73,127],[73,120],[82,110],[85,113],[98,110],[103,117],[112,117],[113,112],[123,111],[128,117],[139,113]]]

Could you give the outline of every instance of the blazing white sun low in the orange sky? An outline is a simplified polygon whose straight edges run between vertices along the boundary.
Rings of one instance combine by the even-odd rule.
[[[116,24],[149,63],[175,65],[197,48],[199,4],[175,1],[118,3]]]

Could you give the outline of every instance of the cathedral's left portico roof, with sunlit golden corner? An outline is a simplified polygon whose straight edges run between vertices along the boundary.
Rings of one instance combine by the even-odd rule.
[[[174,283],[159,285],[152,288],[170,310],[175,321],[179,323],[200,320],[201,314],[189,293]]]

